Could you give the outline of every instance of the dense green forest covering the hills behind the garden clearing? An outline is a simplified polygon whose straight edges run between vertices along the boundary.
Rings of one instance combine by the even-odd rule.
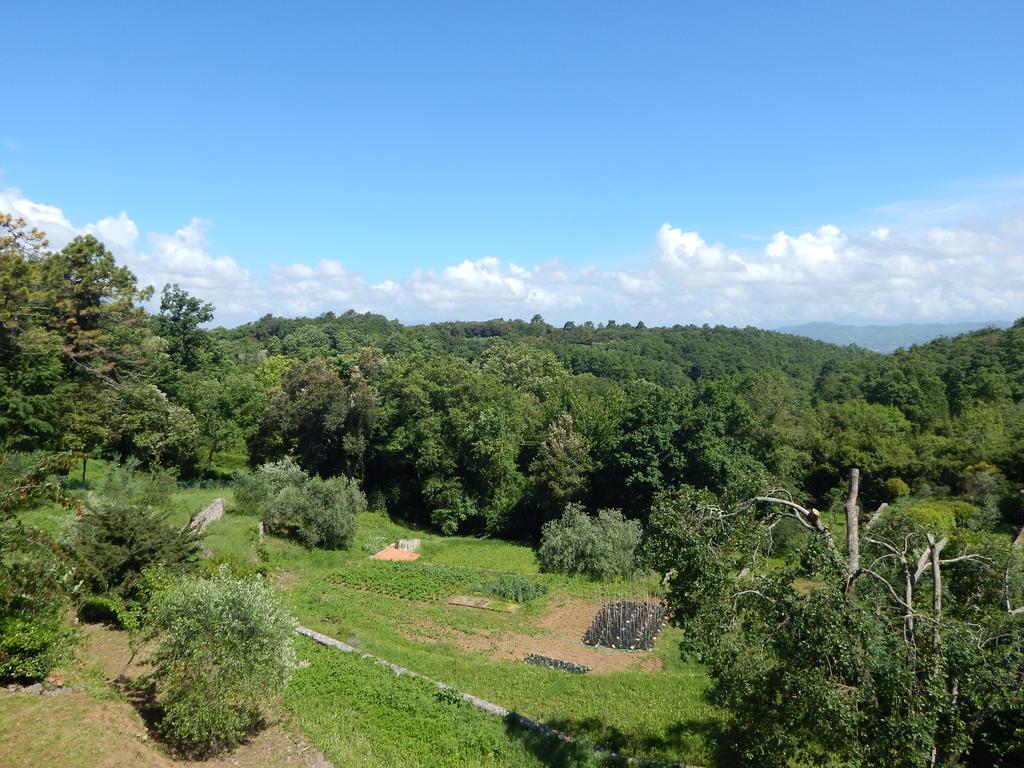
[[[152,289],[91,237],[47,252],[5,220],[0,450],[134,458],[182,478],[285,456],[445,532],[536,538],[567,502],[644,520],[680,485],[835,506],[993,489],[1017,522],[1024,324],[881,355],[753,328],[406,327],[265,316]],[[156,304],[156,301],[154,301]],[[984,482],[979,478],[983,477]],[[987,484],[986,484],[987,483]]]

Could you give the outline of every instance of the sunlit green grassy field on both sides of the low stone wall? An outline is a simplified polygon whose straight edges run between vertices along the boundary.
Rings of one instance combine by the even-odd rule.
[[[710,761],[700,734],[718,716],[702,699],[706,675],[679,657],[677,630],[666,629],[651,652],[580,642],[601,602],[643,598],[656,581],[595,585],[540,574],[527,546],[434,536],[378,513],[359,516],[348,551],[307,550],[270,537],[260,545],[256,518],[233,512],[224,487],[179,488],[170,519],[183,524],[217,497],[227,499],[228,513],[210,526],[205,548],[215,557],[265,568],[300,623],[626,755]],[[59,535],[72,515],[45,507],[24,518]],[[370,559],[369,550],[380,541],[399,538],[423,541],[418,561]],[[500,572],[542,581],[548,591],[514,613],[447,604],[449,597]],[[423,681],[395,678],[371,662],[306,641],[298,647],[309,666],[296,674],[287,709],[338,766],[581,764],[579,754],[555,754],[550,742],[510,731],[498,718],[437,700]],[[527,652],[588,664],[594,671],[571,675],[534,667],[521,660]]]

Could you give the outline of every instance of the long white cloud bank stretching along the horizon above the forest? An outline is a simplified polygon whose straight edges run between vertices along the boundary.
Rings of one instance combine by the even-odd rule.
[[[774,328],[810,321],[903,323],[1005,319],[1024,314],[1024,209],[926,226],[911,217],[864,231],[825,224],[775,232],[761,248],[709,243],[664,223],[646,261],[629,269],[520,266],[481,254],[437,270],[370,284],[333,259],[254,274],[211,253],[207,223],[141,234],[125,212],[75,225],[54,206],[0,191],[0,211],[47,232],[52,248],[78,234],[102,240],[143,285],[177,283],[213,302],[217,323],[267,312],[381,312],[407,323],[525,317]],[[653,227],[652,227],[653,228]]]

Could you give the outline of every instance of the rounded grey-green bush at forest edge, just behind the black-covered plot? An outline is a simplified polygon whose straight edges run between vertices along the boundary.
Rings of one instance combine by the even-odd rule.
[[[640,523],[626,520],[617,509],[602,509],[591,517],[579,504],[569,504],[561,519],[544,524],[541,569],[594,580],[632,575],[640,535]]]

